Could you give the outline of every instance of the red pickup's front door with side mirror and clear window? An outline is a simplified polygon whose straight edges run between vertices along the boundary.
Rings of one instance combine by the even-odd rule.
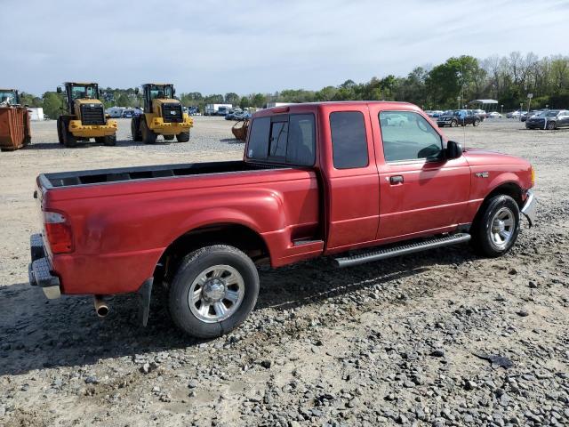
[[[401,125],[389,118],[405,117]],[[445,159],[444,139],[419,111],[372,112],[378,135],[380,221],[377,239],[413,238],[465,222],[470,168],[465,157]]]

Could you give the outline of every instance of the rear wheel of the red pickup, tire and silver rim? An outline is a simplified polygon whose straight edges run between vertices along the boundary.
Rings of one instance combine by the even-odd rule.
[[[219,274],[220,270],[220,280],[209,276],[216,271]],[[229,285],[232,299],[223,294],[227,286],[223,278],[230,277],[234,278]],[[200,282],[199,278],[204,280]],[[209,297],[216,300],[207,300],[206,289],[210,291]],[[196,294],[196,300],[189,301],[190,293]],[[243,323],[258,295],[259,274],[251,258],[233,246],[205,246],[188,254],[180,263],[170,286],[168,306],[173,322],[182,331],[198,338],[214,338]],[[232,301],[235,302],[228,305]],[[219,304],[228,310],[225,314],[218,309]]]

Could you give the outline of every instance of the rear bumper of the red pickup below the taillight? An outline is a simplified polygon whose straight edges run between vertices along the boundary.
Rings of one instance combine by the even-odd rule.
[[[45,253],[41,234],[29,238],[32,262],[28,265],[28,278],[31,286],[40,286],[50,300],[61,296],[60,278],[52,274],[52,263]]]

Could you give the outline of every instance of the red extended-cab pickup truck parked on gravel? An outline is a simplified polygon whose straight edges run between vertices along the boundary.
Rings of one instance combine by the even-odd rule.
[[[48,298],[153,284],[188,334],[227,333],[259,293],[255,265],[340,266],[470,241],[499,256],[534,221],[525,160],[462,149],[414,105],[325,102],[252,117],[243,161],[45,173],[29,280]]]

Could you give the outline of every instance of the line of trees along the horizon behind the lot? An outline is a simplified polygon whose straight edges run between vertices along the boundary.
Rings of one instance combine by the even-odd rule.
[[[100,89],[105,107],[138,107],[140,97],[134,88]],[[527,108],[527,95],[533,93],[532,106],[569,108],[569,56],[539,58],[533,52],[511,52],[479,60],[469,55],[452,57],[436,66],[416,67],[405,77],[372,77],[365,83],[346,80],[341,85],[325,86],[319,91],[285,89],[276,93],[180,93],[178,99],[187,107],[204,110],[205,104],[230,103],[241,108],[262,108],[268,102],[314,101],[408,101],[422,109],[454,109],[468,101],[493,99],[503,108]],[[63,98],[55,92],[41,97],[22,94],[23,103],[43,107],[44,114],[60,114]]]

